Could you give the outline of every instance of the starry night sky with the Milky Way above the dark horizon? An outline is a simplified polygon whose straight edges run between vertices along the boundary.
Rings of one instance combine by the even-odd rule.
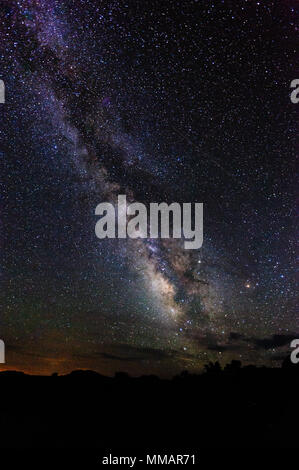
[[[0,1],[2,369],[281,363],[299,337],[295,6]],[[203,202],[202,248],[99,240],[118,194]]]

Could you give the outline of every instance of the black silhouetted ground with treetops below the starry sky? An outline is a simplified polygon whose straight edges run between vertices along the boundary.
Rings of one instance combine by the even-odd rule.
[[[207,367],[201,376],[0,373],[3,448],[294,448],[299,367]]]

